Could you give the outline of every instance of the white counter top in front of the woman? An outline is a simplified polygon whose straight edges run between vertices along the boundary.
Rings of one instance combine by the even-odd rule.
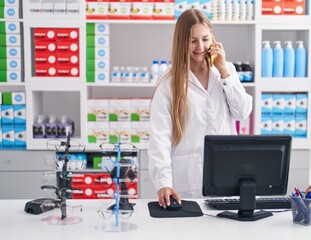
[[[204,214],[193,218],[152,218],[149,215],[150,199],[131,200],[135,202],[132,217],[126,220],[134,224],[136,229],[126,232],[106,232],[98,226],[109,224],[101,220],[97,210],[103,204],[113,203],[111,200],[69,200],[70,203],[83,205],[82,212],[74,212],[82,218],[82,222],[73,225],[50,225],[42,221],[48,216],[60,216],[55,209],[39,215],[24,212],[28,200],[0,200],[0,236],[1,239],[91,239],[91,240],[208,240],[208,239],[306,239],[311,235],[311,226],[294,224],[291,211],[274,213],[272,217],[256,222],[239,222],[214,217],[219,212],[210,209],[203,199],[197,199]],[[69,202],[68,201],[68,202]],[[111,218],[109,221],[114,221]]]

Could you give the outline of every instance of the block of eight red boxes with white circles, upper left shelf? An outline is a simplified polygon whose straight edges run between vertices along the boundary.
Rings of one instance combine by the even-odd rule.
[[[34,76],[79,77],[79,29],[34,28]]]

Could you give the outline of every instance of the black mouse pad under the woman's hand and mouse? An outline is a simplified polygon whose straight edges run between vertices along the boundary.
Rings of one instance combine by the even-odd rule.
[[[195,201],[181,200],[182,208],[177,211],[166,210],[159,206],[159,202],[149,202],[149,214],[154,218],[175,218],[175,217],[200,217],[203,212]]]

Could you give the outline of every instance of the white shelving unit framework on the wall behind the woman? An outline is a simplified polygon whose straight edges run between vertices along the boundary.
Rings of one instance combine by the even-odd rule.
[[[86,24],[109,24],[110,68],[117,66],[150,66],[153,59],[170,59],[175,21],[155,20],[86,20],[85,5],[80,1],[79,14],[53,15],[29,13],[29,1],[23,4],[23,18],[17,21],[23,25],[24,36],[24,81],[18,84],[0,83],[1,89],[26,92],[27,106],[27,150],[46,150],[46,139],[34,139],[32,124],[39,113],[68,114],[75,122],[75,135],[81,144],[87,145],[86,151],[99,151],[99,146],[87,143],[87,100],[91,98],[150,98],[154,92],[154,83],[87,83],[86,82]],[[228,61],[249,62],[254,71],[254,82],[243,83],[245,89],[254,98],[251,116],[251,131],[260,133],[261,94],[265,92],[305,92],[308,94],[308,106],[311,106],[311,16],[262,16],[261,1],[255,1],[254,21],[215,21],[213,31],[217,41],[223,43]],[[310,2],[308,12],[310,14]],[[75,78],[34,77],[32,75],[34,28],[78,28],[80,74]],[[261,49],[263,40],[303,40],[308,50],[306,78],[261,77]],[[3,91],[3,90],[2,90]],[[311,151],[311,111],[308,111],[307,137],[293,139],[293,150],[297,156],[303,156],[306,170],[303,178],[309,179]],[[147,176],[146,145],[141,149],[140,176]],[[296,154],[294,154],[296,156]],[[297,166],[297,165],[295,165]],[[148,182],[147,178],[144,180]],[[144,188],[143,182],[140,183]],[[149,183],[148,183],[149,184]],[[307,184],[307,183],[305,183]]]

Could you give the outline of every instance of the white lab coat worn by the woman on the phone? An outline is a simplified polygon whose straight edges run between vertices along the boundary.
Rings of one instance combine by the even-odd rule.
[[[188,85],[189,118],[183,137],[172,146],[170,77],[158,80],[150,107],[149,173],[158,191],[173,187],[182,198],[202,197],[205,135],[237,134],[235,120],[247,118],[252,97],[245,92],[232,63],[230,76],[221,79],[215,67],[205,90],[191,72]]]

